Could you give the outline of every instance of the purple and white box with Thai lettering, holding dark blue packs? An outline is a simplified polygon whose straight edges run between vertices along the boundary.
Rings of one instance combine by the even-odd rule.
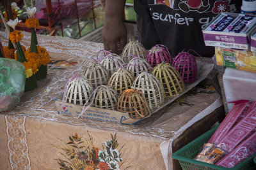
[[[227,13],[232,17],[237,17],[238,13]],[[217,15],[215,17],[218,18]],[[255,16],[255,15],[252,15]],[[212,20],[206,27],[212,24]],[[205,28],[206,28],[205,27]],[[205,31],[203,29],[204,42],[206,46],[220,46],[223,48],[236,48],[241,50],[248,50],[250,46],[250,34],[254,31],[256,25],[250,29],[250,31],[244,33],[234,33],[234,32],[218,32],[218,31]]]

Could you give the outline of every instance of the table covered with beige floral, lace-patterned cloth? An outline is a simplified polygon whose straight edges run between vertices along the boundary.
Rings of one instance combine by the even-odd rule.
[[[24,34],[22,45],[28,47],[30,37],[28,33]],[[4,46],[8,43],[6,37],[5,32],[0,32]],[[205,85],[195,87],[175,103],[137,125],[58,115],[55,97],[63,92],[71,75],[83,76],[86,60],[95,57],[103,46],[100,43],[42,35],[38,35],[38,43],[51,55],[49,73],[47,78],[38,81],[37,89],[24,93],[13,110],[0,114],[2,169],[60,169],[60,166],[67,165],[63,162],[65,157],[84,162],[87,165],[84,169],[99,169],[106,164],[97,162],[95,153],[98,152],[108,157],[115,153],[112,163],[120,169],[173,169],[173,150],[223,118],[220,96],[211,86]],[[112,143],[117,140],[118,146],[113,144],[108,153],[111,134],[114,138]],[[76,140],[75,144],[83,141],[79,146],[88,146],[88,152],[82,151],[83,146],[78,150],[72,144]],[[76,164],[72,166],[74,168]]]

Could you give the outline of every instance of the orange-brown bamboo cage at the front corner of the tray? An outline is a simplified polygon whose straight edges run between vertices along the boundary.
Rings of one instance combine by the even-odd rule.
[[[131,118],[150,117],[148,103],[141,90],[124,90],[118,97],[117,110],[129,113]]]

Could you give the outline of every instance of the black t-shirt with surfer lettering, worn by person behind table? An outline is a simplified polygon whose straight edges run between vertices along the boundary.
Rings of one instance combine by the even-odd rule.
[[[140,41],[147,49],[165,45],[172,57],[184,49],[212,57],[214,48],[205,46],[202,29],[218,13],[239,12],[241,4],[242,0],[134,0]]]

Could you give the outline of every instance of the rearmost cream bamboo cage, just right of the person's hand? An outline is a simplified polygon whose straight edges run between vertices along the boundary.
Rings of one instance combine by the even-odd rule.
[[[122,58],[125,63],[128,63],[132,59],[132,55],[137,55],[143,59],[146,59],[147,54],[146,50],[141,43],[134,41],[134,39],[130,38],[129,43],[125,45]]]

